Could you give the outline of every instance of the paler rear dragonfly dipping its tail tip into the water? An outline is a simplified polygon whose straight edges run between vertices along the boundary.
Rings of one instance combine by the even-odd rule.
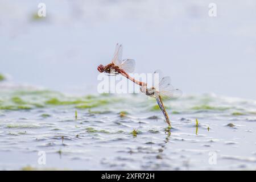
[[[155,71],[153,76],[154,78],[158,78],[153,82],[153,86],[150,88],[144,88],[144,91],[143,87],[141,87],[141,90],[147,96],[154,97],[156,99],[160,110],[164,114],[164,118],[166,118],[166,122],[171,126],[168,113],[164,108],[163,98],[179,98],[181,97],[182,92],[179,89],[175,89],[174,86],[171,85],[171,78],[169,76],[163,77],[162,72]]]

